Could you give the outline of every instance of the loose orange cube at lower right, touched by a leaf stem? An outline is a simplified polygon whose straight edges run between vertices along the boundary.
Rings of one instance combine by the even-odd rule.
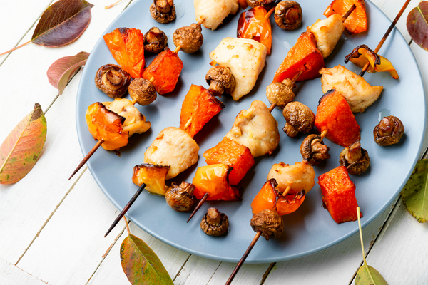
[[[336,167],[320,175],[318,183],[321,187],[322,203],[337,224],[358,219],[355,185],[345,166]]]

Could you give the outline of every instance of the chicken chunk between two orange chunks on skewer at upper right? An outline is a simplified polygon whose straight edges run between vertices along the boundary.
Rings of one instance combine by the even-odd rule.
[[[343,31],[342,15],[335,14],[324,20],[317,20],[315,24],[307,27],[307,31],[314,34],[317,40],[317,48],[321,51],[322,57],[330,56]]]

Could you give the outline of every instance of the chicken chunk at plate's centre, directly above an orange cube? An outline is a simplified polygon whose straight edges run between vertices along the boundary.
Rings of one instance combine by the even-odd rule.
[[[272,154],[280,142],[278,123],[261,101],[254,101],[248,110],[240,111],[225,137],[248,147],[253,157]]]

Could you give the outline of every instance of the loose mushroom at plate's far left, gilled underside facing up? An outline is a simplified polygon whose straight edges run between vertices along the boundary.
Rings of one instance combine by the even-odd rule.
[[[111,98],[122,98],[131,83],[131,76],[121,66],[106,64],[95,75],[96,87]]]

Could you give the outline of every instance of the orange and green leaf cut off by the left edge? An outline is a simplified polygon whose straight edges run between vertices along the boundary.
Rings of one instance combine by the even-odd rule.
[[[18,182],[36,164],[46,140],[46,119],[39,103],[0,146],[0,184]]]

